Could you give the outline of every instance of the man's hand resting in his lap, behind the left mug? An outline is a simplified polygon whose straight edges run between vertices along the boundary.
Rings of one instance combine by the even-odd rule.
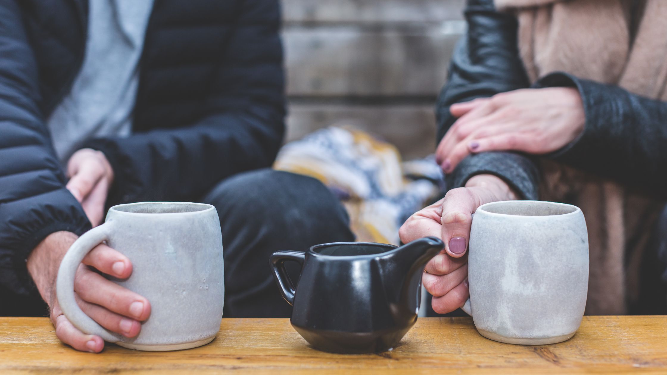
[[[84,148],[76,151],[67,162],[67,190],[77,198],[93,228],[102,224],[113,169],[104,153]]]

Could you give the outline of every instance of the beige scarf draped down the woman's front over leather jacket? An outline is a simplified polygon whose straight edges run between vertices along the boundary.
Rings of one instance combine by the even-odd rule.
[[[667,99],[667,1],[495,0],[516,14],[532,81],[554,72]],[[587,314],[625,314],[638,296],[642,250],[663,202],[622,185],[544,162],[543,200],[582,208],[590,240]],[[574,198],[572,198],[574,197]],[[573,202],[574,200],[574,202]]]

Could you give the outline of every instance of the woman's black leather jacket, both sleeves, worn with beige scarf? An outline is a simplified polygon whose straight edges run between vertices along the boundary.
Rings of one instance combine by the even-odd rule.
[[[453,103],[528,87],[575,87],[586,113],[584,133],[546,157],[667,197],[667,103],[566,73],[546,75],[531,85],[518,53],[516,17],[496,11],[492,0],[468,0],[465,15],[468,32],[456,47],[438,99],[438,139],[456,121],[449,111]],[[449,185],[460,187],[480,173],[498,175],[524,198],[538,198],[539,171],[528,155],[468,156],[450,175]]]

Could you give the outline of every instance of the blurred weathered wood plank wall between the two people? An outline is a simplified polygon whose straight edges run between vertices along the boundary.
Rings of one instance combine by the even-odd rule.
[[[434,103],[464,0],[282,0],[287,141],[349,123],[406,159],[435,148]]]

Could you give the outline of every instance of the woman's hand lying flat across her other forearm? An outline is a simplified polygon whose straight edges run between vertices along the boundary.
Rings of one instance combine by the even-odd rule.
[[[445,173],[470,155],[484,151],[543,154],[574,141],[586,115],[572,87],[519,89],[453,104],[458,120],[440,141],[436,160]]]

